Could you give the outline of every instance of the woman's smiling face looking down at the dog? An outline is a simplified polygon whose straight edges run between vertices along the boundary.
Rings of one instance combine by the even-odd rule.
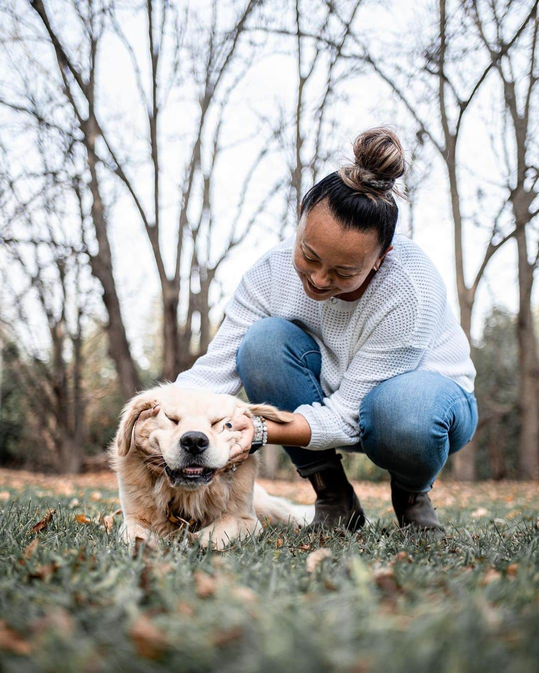
[[[374,231],[344,231],[322,201],[299,220],[292,260],[308,297],[352,301],[390,250],[380,252]]]

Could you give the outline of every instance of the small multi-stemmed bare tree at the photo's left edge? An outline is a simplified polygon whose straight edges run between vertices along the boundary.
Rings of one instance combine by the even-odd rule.
[[[46,165],[43,168],[48,171]],[[48,175],[54,183],[54,174]],[[1,182],[6,184],[5,179]],[[74,236],[67,234],[58,221],[58,187],[50,185],[42,217],[24,207],[15,190],[9,203],[2,203],[0,240],[7,262],[3,289],[11,297],[11,310],[3,311],[0,330],[1,341],[16,349],[6,366],[24,390],[29,407],[34,436],[26,437],[27,441],[42,453],[43,448],[48,450],[48,460],[57,472],[77,472],[85,439],[83,320],[94,290],[88,285],[87,251],[77,240],[76,228]],[[48,340],[34,334],[38,318],[46,323]]]

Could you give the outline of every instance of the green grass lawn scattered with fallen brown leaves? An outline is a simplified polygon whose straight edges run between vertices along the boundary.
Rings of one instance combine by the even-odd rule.
[[[114,493],[96,502],[87,492],[74,508],[40,493],[2,503],[1,671],[536,670],[532,511],[445,511],[447,535],[430,540],[398,530],[385,506],[359,535],[312,543],[280,526],[225,553],[141,547],[133,557],[120,518],[110,532],[98,522]],[[48,506],[57,513],[34,534]],[[320,544],[330,557],[308,573]]]

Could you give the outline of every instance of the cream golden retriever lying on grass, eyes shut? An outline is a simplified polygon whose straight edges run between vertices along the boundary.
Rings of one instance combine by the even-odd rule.
[[[146,409],[147,418],[139,419]],[[302,526],[314,507],[294,505],[255,484],[255,454],[227,466],[239,433],[225,423],[239,415],[261,415],[284,423],[287,412],[247,404],[231,395],[163,384],[130,400],[109,449],[118,476],[127,542],[144,538],[198,538],[201,546],[224,548],[262,530],[260,518]],[[135,446],[137,423],[137,446]]]

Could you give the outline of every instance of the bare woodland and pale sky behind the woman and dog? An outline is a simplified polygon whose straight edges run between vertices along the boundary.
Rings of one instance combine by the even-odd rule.
[[[0,464],[104,464],[361,130],[472,343],[456,479],[539,479],[536,0],[4,0]],[[363,456],[355,478],[384,479]],[[267,449],[266,476],[292,474]]]

